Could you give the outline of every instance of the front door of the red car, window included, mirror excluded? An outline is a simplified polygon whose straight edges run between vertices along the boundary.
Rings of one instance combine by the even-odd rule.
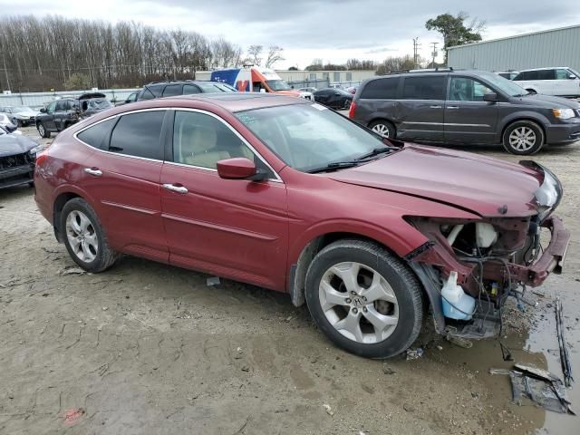
[[[285,288],[285,184],[236,131],[201,111],[176,111],[172,157],[161,170],[169,262],[274,289]],[[254,160],[271,178],[221,179],[217,162]]]

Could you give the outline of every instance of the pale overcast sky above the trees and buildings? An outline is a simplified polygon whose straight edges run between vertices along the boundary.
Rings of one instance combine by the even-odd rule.
[[[277,69],[304,68],[314,58],[343,63],[351,57],[381,61],[412,54],[413,37],[420,38],[420,55],[430,57],[430,43],[441,45],[441,39],[425,22],[447,12],[463,10],[485,20],[484,39],[580,24],[578,0],[0,0],[0,6],[0,15],[61,14],[182,28],[223,36],[243,49],[279,45],[286,59],[275,64]]]

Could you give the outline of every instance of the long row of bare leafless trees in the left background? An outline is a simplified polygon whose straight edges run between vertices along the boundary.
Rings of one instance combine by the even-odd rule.
[[[0,51],[0,88],[13,92],[131,88],[244,61],[223,38],[61,16],[3,19]]]

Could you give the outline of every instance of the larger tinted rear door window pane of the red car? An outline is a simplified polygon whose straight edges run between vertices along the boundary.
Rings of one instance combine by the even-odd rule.
[[[163,160],[160,142],[165,111],[140,111],[121,116],[111,135],[109,150],[130,156]]]

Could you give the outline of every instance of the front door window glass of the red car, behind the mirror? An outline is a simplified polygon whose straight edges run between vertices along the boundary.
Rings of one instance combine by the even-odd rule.
[[[256,168],[271,172],[224,122],[196,111],[175,112],[173,161],[199,168],[217,169],[219,160],[234,157],[252,160]]]

